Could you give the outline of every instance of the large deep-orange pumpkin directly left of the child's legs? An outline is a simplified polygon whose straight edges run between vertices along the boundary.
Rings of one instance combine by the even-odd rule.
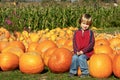
[[[72,53],[66,48],[57,48],[48,61],[49,69],[54,73],[63,73],[69,70]]]

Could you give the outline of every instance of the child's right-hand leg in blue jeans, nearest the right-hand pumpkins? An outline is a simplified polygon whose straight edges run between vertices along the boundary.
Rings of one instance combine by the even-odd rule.
[[[86,55],[84,55],[84,54],[80,55],[78,58],[78,61],[79,61],[79,66],[80,66],[82,75],[88,75],[89,71],[88,71],[88,64],[87,64]]]

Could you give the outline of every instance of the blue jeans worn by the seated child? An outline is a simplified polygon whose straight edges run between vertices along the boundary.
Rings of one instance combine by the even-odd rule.
[[[80,56],[74,54],[72,57],[72,64],[70,66],[70,73],[77,74],[78,67],[80,66],[81,72],[83,75],[89,74],[87,56],[82,54]]]

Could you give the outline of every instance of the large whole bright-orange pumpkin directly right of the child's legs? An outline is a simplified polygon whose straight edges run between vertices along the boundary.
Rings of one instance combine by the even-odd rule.
[[[89,61],[90,75],[107,78],[112,74],[112,60],[107,54],[93,54]]]

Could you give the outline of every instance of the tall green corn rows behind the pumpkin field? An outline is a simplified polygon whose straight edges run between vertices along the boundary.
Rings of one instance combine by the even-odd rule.
[[[84,2],[83,2],[84,3]],[[6,5],[5,5],[6,4]],[[100,6],[99,3],[3,3],[0,8],[0,26],[10,31],[54,29],[56,27],[79,27],[78,20],[83,13],[93,17],[95,27],[120,27],[120,7]]]

